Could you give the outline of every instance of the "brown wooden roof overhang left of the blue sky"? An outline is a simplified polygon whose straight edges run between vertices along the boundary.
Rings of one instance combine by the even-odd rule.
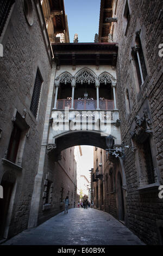
[[[55,34],[66,32],[64,0],[49,0]]]

